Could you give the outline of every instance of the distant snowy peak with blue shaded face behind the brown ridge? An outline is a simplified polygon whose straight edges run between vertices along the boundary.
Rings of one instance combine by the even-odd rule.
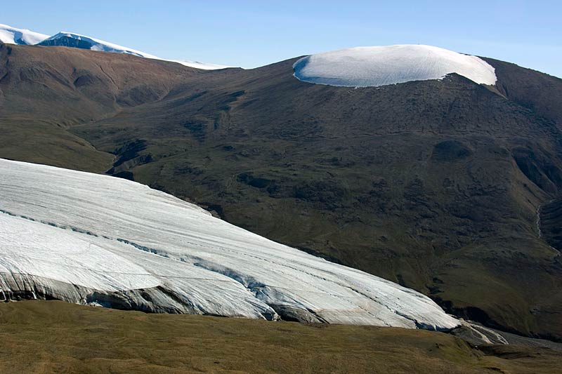
[[[108,41],[91,38],[90,36],[75,34],[74,32],[59,32],[39,43],[39,46],[63,46],[81,49],[91,49],[92,51],[103,51],[112,53],[126,53],[144,58],[157,58],[149,53],[136,51],[132,48],[119,46]]]

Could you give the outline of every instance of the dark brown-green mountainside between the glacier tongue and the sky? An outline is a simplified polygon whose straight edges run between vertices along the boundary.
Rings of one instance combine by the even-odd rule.
[[[497,88],[353,89],[298,81],[294,60],[0,55],[0,156],[134,179],[456,314],[562,338],[562,262],[535,214],[562,187],[562,80],[488,60]]]

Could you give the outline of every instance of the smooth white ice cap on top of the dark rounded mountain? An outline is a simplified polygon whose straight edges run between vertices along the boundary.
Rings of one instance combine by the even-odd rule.
[[[294,76],[313,84],[378,87],[442,79],[450,73],[478,84],[496,82],[495,69],[481,58],[423,45],[356,47],[306,56],[293,65]]]

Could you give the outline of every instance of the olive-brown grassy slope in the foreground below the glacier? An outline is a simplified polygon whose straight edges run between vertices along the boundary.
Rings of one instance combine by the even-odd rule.
[[[0,305],[3,373],[556,373],[560,352],[424,330]]]

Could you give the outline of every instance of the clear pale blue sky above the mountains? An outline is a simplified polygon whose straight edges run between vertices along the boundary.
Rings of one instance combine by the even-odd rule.
[[[161,58],[257,67],[352,46],[429,44],[562,77],[562,1],[3,1],[0,23]]]

